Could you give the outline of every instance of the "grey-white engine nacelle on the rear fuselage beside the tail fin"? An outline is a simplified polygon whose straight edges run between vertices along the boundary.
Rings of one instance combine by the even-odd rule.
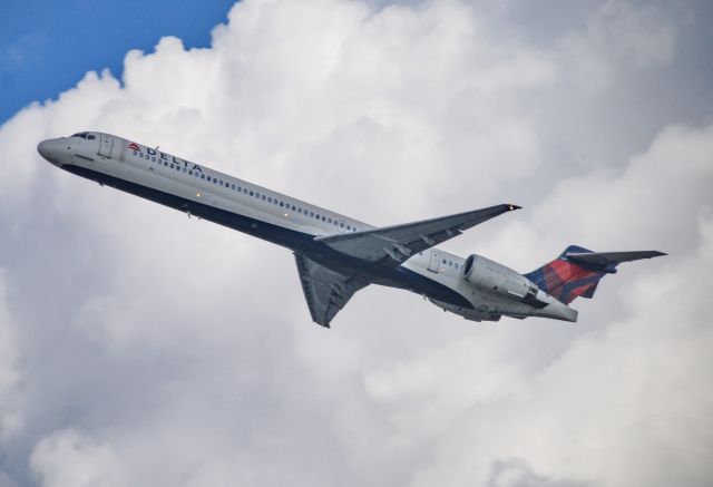
[[[462,266],[461,276],[479,290],[500,294],[535,305],[537,286],[510,267],[481,255],[470,255]]]

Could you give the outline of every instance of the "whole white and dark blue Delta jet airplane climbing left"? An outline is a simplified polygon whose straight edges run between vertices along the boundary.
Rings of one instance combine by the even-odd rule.
[[[400,225],[364,222],[280,194],[204,165],[100,132],[42,140],[40,155],[78,176],[282,245],[294,254],[312,320],[325,328],[369,284],[408,290],[476,322],[501,316],[577,321],[576,298],[623,262],[657,251],[592,252],[570,245],[520,274],[485,256],[461,257],[441,244],[514,204]]]

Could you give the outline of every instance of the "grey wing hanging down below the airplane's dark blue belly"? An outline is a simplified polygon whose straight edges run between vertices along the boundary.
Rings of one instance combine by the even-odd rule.
[[[354,293],[369,285],[368,282],[326,269],[304,255],[295,253],[294,259],[312,321],[322,327],[330,328],[330,321]]]

